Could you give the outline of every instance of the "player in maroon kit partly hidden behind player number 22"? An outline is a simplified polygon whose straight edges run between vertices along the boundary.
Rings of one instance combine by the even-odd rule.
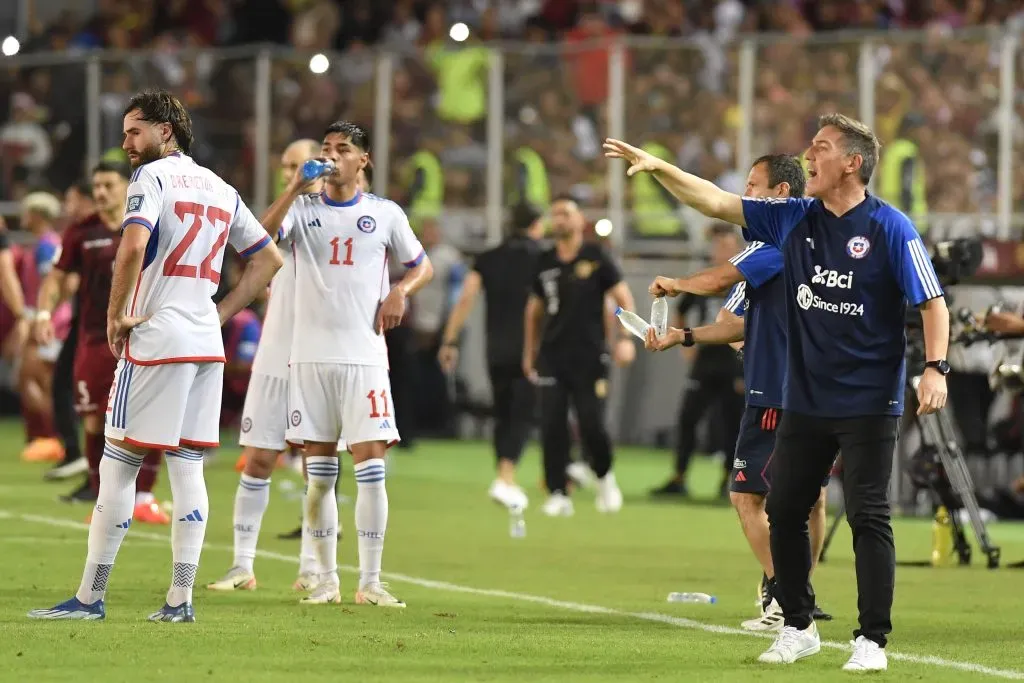
[[[60,258],[39,289],[34,336],[45,346],[53,343],[52,312],[69,294],[69,281],[77,280],[81,302],[76,331],[75,410],[82,416],[88,477],[62,497],[68,503],[95,503],[99,493],[99,464],[103,456],[103,417],[106,397],[114,382],[118,359],[106,343],[105,302],[111,298],[114,257],[121,242],[121,220],[128,196],[131,170],[127,164],[100,162],[92,172],[92,193],[96,212],[65,230]],[[151,524],[168,524],[170,517],[153,495],[162,454],[145,456],[135,486],[133,518]]]

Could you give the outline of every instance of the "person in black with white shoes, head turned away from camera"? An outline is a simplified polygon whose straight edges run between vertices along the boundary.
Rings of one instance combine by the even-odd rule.
[[[525,509],[526,493],[515,482],[515,470],[534,422],[535,387],[522,374],[521,315],[529,296],[534,269],[541,254],[544,221],[532,208],[513,212],[512,234],[476,258],[466,275],[459,301],[442,335],[438,360],[446,373],[459,362],[459,335],[480,290],[486,300],[487,369],[494,393],[495,455],[498,478],[487,494],[506,507]]]

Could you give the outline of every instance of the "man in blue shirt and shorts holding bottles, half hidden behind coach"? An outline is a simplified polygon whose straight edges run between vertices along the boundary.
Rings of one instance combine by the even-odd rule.
[[[768,155],[756,160],[746,176],[743,197],[803,197],[806,178],[800,160],[788,155]],[[754,242],[723,265],[687,278],[655,278],[653,296],[698,296],[720,292],[732,285],[714,325],[693,330],[671,329],[664,337],[648,337],[648,349],[664,350],[677,344],[725,344],[743,341],[743,383],[746,405],[736,440],[736,455],[729,476],[729,499],[739,515],[746,542],[763,569],[758,586],[760,618],[743,622],[751,631],[782,628],[782,609],[775,599],[775,569],[768,541],[765,499],[770,488],[769,463],[775,447],[775,428],[782,408],[785,376],[785,281],[782,254],[775,247]],[[742,316],[742,317],[740,317]],[[825,537],[825,492],[814,503],[810,517],[811,561],[817,564]],[[831,617],[815,607],[814,617]]]

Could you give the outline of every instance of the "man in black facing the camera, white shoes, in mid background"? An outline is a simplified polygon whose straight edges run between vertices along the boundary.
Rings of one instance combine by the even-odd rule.
[[[594,243],[583,239],[585,219],[571,199],[551,205],[555,246],[537,263],[526,302],[522,370],[540,386],[544,474],[550,493],[543,511],[549,516],[573,512],[568,497],[569,401],[575,410],[587,461],[597,477],[597,509],[617,512],[623,494],[611,471],[611,439],[604,424],[608,393],[605,297],[633,309],[633,295],[618,266]],[[620,330],[612,356],[618,366],[633,362],[636,348]]]

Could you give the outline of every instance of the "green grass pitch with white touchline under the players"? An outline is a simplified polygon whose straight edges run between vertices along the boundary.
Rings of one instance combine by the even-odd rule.
[[[233,435],[226,435],[230,442]],[[195,625],[150,624],[170,575],[166,527],[135,525],[118,557],[105,623],[39,623],[33,607],[71,596],[85,557],[88,510],[55,503],[68,484],[44,483],[42,466],[17,462],[15,424],[0,424],[8,458],[0,463],[0,680],[3,681],[746,681],[843,680],[840,649],[856,623],[849,529],[815,578],[819,602],[836,615],[820,625],[836,643],[784,670],[756,661],[768,641],[735,632],[753,615],[760,574],[734,513],[717,505],[655,504],[644,497],[668,469],[664,453],[621,449],[616,472],[627,502],[599,515],[593,496],[575,496],[577,514],[547,519],[536,489],[539,462],[523,464],[531,507],[527,536],[511,539],[490,504],[489,449],[423,443],[395,452],[388,476],[391,515],[385,569],[404,611],[351,604],[357,564],[352,507],[339,550],[346,603],[306,607],[290,591],[298,542],[298,502],[274,476],[263,522],[254,593],[198,589]],[[237,451],[207,471],[211,523],[199,583],[230,563]],[[711,498],[718,465],[696,463],[695,494]],[[351,464],[342,490],[354,496]],[[158,495],[167,493],[163,477]],[[1024,558],[1024,527],[991,528],[1007,561]],[[925,520],[896,526],[900,559],[924,559]],[[959,681],[1024,678],[1024,574],[1014,569],[900,568],[889,672],[872,680]],[[475,589],[475,590],[474,590]],[[718,596],[715,605],[665,602],[670,591]],[[725,627],[716,632],[714,627]],[[730,631],[731,629],[731,631]],[[897,653],[904,655],[897,658]],[[927,657],[937,657],[928,663]],[[973,671],[966,669],[973,668]],[[984,673],[984,668],[989,670]]]

